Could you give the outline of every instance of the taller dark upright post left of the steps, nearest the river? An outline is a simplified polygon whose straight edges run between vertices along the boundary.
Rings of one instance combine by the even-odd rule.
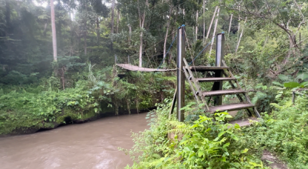
[[[185,75],[183,72],[185,58],[185,27],[181,26],[178,29],[177,36],[177,118],[179,121],[184,121],[184,110],[181,110],[185,105]]]

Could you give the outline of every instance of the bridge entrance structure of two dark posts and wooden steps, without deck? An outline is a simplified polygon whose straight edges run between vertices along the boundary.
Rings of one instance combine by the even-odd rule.
[[[261,118],[259,112],[255,108],[255,105],[251,102],[247,91],[244,91],[237,78],[234,77],[229,67],[226,66],[224,56],[224,34],[217,34],[216,41],[216,65],[215,67],[204,66],[189,66],[185,59],[185,37],[184,26],[178,29],[178,44],[177,44],[177,89],[172,102],[170,114],[172,114],[176,101],[177,104],[177,118],[179,121],[184,121],[184,111],[181,110],[185,105],[185,81],[183,76],[186,77],[191,91],[194,93],[195,99],[198,104],[204,103],[206,112],[214,113],[217,111],[234,111],[245,109],[249,116],[257,116]],[[195,78],[192,71],[195,72],[213,72],[214,77]],[[197,74],[196,74],[197,75]],[[228,81],[232,89],[223,90],[223,81]],[[200,82],[214,82],[211,91],[202,91]],[[222,104],[223,95],[236,95],[239,99],[239,103]],[[242,97],[244,96],[244,97]],[[206,100],[205,98],[208,97]],[[214,99],[214,105],[209,106],[211,98]],[[245,98],[245,99],[244,99]],[[253,109],[253,112],[250,109]]]

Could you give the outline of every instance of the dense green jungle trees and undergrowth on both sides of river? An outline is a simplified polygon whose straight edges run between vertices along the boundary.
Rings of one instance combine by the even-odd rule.
[[[290,168],[308,168],[307,7],[306,0],[0,0],[0,135],[158,105],[150,130],[133,135],[132,168],[263,168],[263,149]],[[205,116],[186,85],[192,103],[186,122],[177,122],[167,115],[174,72],[114,66],[174,69],[181,25],[185,57],[198,56],[196,66],[214,65],[215,35],[224,32],[226,64],[263,120],[240,128],[224,121],[242,111]]]

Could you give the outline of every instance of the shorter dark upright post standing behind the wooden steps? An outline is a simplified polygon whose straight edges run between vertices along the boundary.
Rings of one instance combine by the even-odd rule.
[[[219,33],[216,36],[216,67],[222,67],[222,60],[224,56],[224,33]],[[222,77],[223,70],[215,72],[215,77]],[[222,90],[222,81],[216,81],[213,85],[213,90]],[[222,104],[222,96],[216,96],[215,99],[216,105]]]

